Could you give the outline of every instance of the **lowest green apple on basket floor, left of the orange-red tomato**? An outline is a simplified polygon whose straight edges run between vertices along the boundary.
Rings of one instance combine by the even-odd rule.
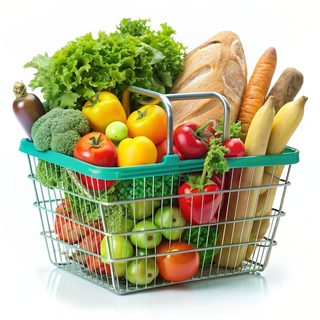
[[[128,262],[125,278],[132,284],[142,286],[152,282],[158,274],[159,266],[155,258],[142,258]]]

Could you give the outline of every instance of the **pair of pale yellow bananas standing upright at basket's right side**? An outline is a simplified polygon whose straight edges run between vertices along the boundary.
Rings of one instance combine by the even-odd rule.
[[[250,123],[245,140],[245,156],[282,153],[303,118],[307,99],[302,96],[288,102],[275,113],[275,97],[268,97]],[[230,222],[218,226],[223,237],[217,241],[217,245],[233,246],[221,248],[215,255],[214,260],[221,267],[237,267],[243,259],[249,259],[255,245],[235,244],[244,244],[252,239],[260,241],[269,228],[270,219],[249,219],[271,215],[277,188],[253,188],[250,192],[246,188],[279,184],[283,169],[284,166],[234,169],[231,189],[239,191],[230,193],[228,208],[222,209],[219,222]],[[242,222],[242,219],[248,220]]]

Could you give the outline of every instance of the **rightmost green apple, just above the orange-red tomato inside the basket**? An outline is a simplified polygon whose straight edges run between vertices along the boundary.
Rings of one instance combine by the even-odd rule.
[[[169,240],[178,240],[185,229],[179,229],[187,224],[186,218],[180,212],[179,207],[165,205],[159,208],[154,214],[154,223],[159,229],[172,228],[162,231],[162,235]],[[174,228],[177,228],[174,230]]]

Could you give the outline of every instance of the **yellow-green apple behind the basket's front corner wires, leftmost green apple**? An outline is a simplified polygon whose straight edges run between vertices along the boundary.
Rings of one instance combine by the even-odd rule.
[[[109,258],[107,238],[109,242],[110,254]],[[126,236],[105,236],[100,243],[101,256],[106,259],[122,259],[133,257],[133,246]],[[101,259],[103,263],[110,264],[106,259]],[[126,261],[119,261],[114,263],[114,270],[117,277],[124,277],[126,274]]]

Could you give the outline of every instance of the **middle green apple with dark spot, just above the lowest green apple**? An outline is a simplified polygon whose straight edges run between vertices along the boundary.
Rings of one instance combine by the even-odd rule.
[[[135,224],[132,232],[136,232],[130,235],[131,243],[139,248],[151,249],[156,247],[161,243],[162,234],[156,231],[158,227],[148,220],[141,220]],[[145,232],[140,232],[145,231]],[[146,232],[150,231],[150,232]]]

